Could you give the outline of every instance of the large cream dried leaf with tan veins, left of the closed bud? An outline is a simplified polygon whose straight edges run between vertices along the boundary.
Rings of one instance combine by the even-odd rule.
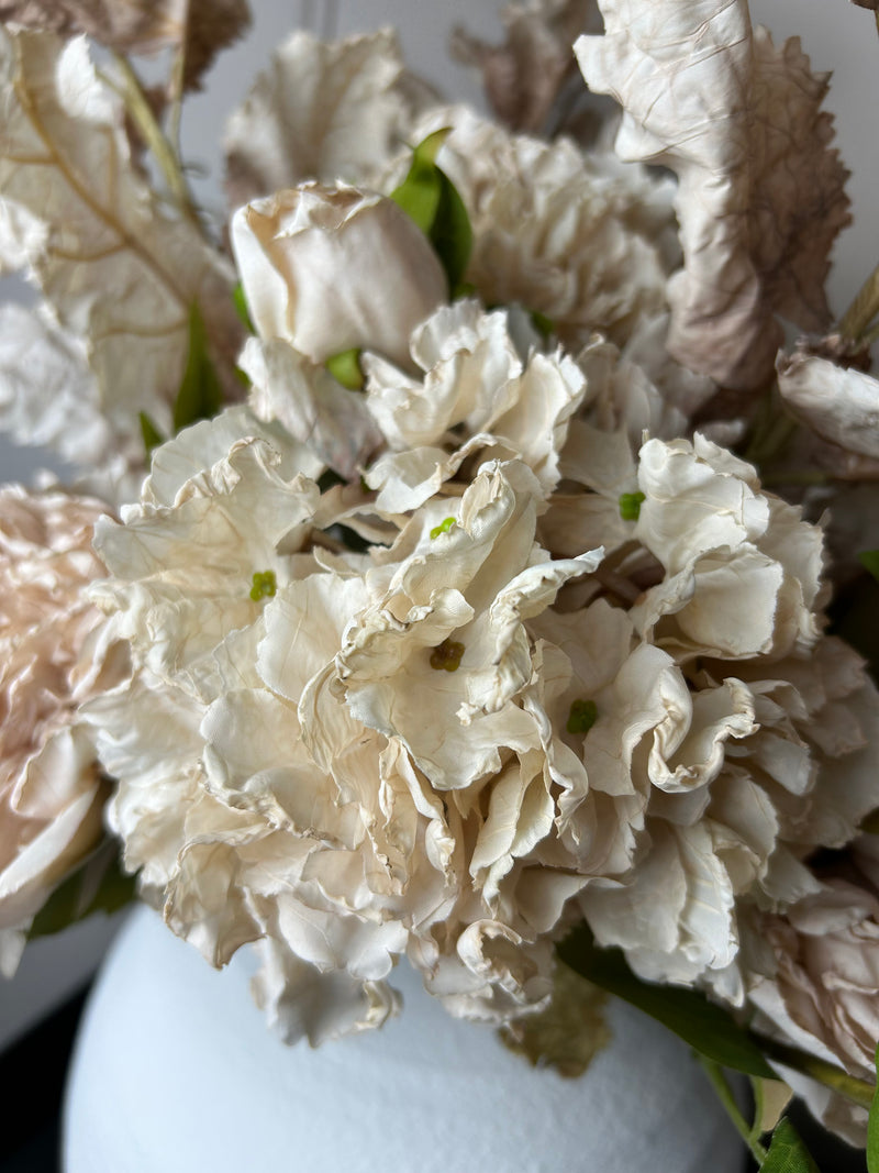
[[[121,102],[83,40],[2,34],[0,88],[0,262],[27,265],[61,326],[84,339],[101,413],[121,447],[134,438],[142,450],[138,412],[171,429],[193,301],[231,377],[231,272],[132,169]]]

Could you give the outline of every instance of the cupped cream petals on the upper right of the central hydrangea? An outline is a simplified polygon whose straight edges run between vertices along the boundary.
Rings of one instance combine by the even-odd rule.
[[[815,644],[822,534],[798,508],[761,493],[749,465],[699,435],[646,443],[638,477],[635,536],[666,569],[635,608],[641,631],[677,655],[724,659]]]

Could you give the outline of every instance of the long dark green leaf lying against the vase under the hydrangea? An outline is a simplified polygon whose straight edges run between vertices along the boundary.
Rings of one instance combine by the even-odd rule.
[[[700,1055],[734,1071],[776,1078],[761,1049],[725,1010],[695,990],[642,982],[619,949],[595,945],[588,925],[574,929],[556,948],[561,960],[582,977],[643,1010]]]

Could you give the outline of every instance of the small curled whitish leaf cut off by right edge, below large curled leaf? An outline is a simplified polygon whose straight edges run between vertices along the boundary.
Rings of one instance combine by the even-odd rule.
[[[800,353],[779,355],[777,369],[782,398],[797,419],[846,452],[879,457],[879,380]]]

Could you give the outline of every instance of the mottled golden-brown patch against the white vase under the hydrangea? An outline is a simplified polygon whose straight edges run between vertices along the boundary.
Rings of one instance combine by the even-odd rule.
[[[502,1026],[500,1040],[533,1067],[554,1067],[560,1076],[575,1079],[611,1042],[607,999],[604,990],[558,962],[548,1006]]]

